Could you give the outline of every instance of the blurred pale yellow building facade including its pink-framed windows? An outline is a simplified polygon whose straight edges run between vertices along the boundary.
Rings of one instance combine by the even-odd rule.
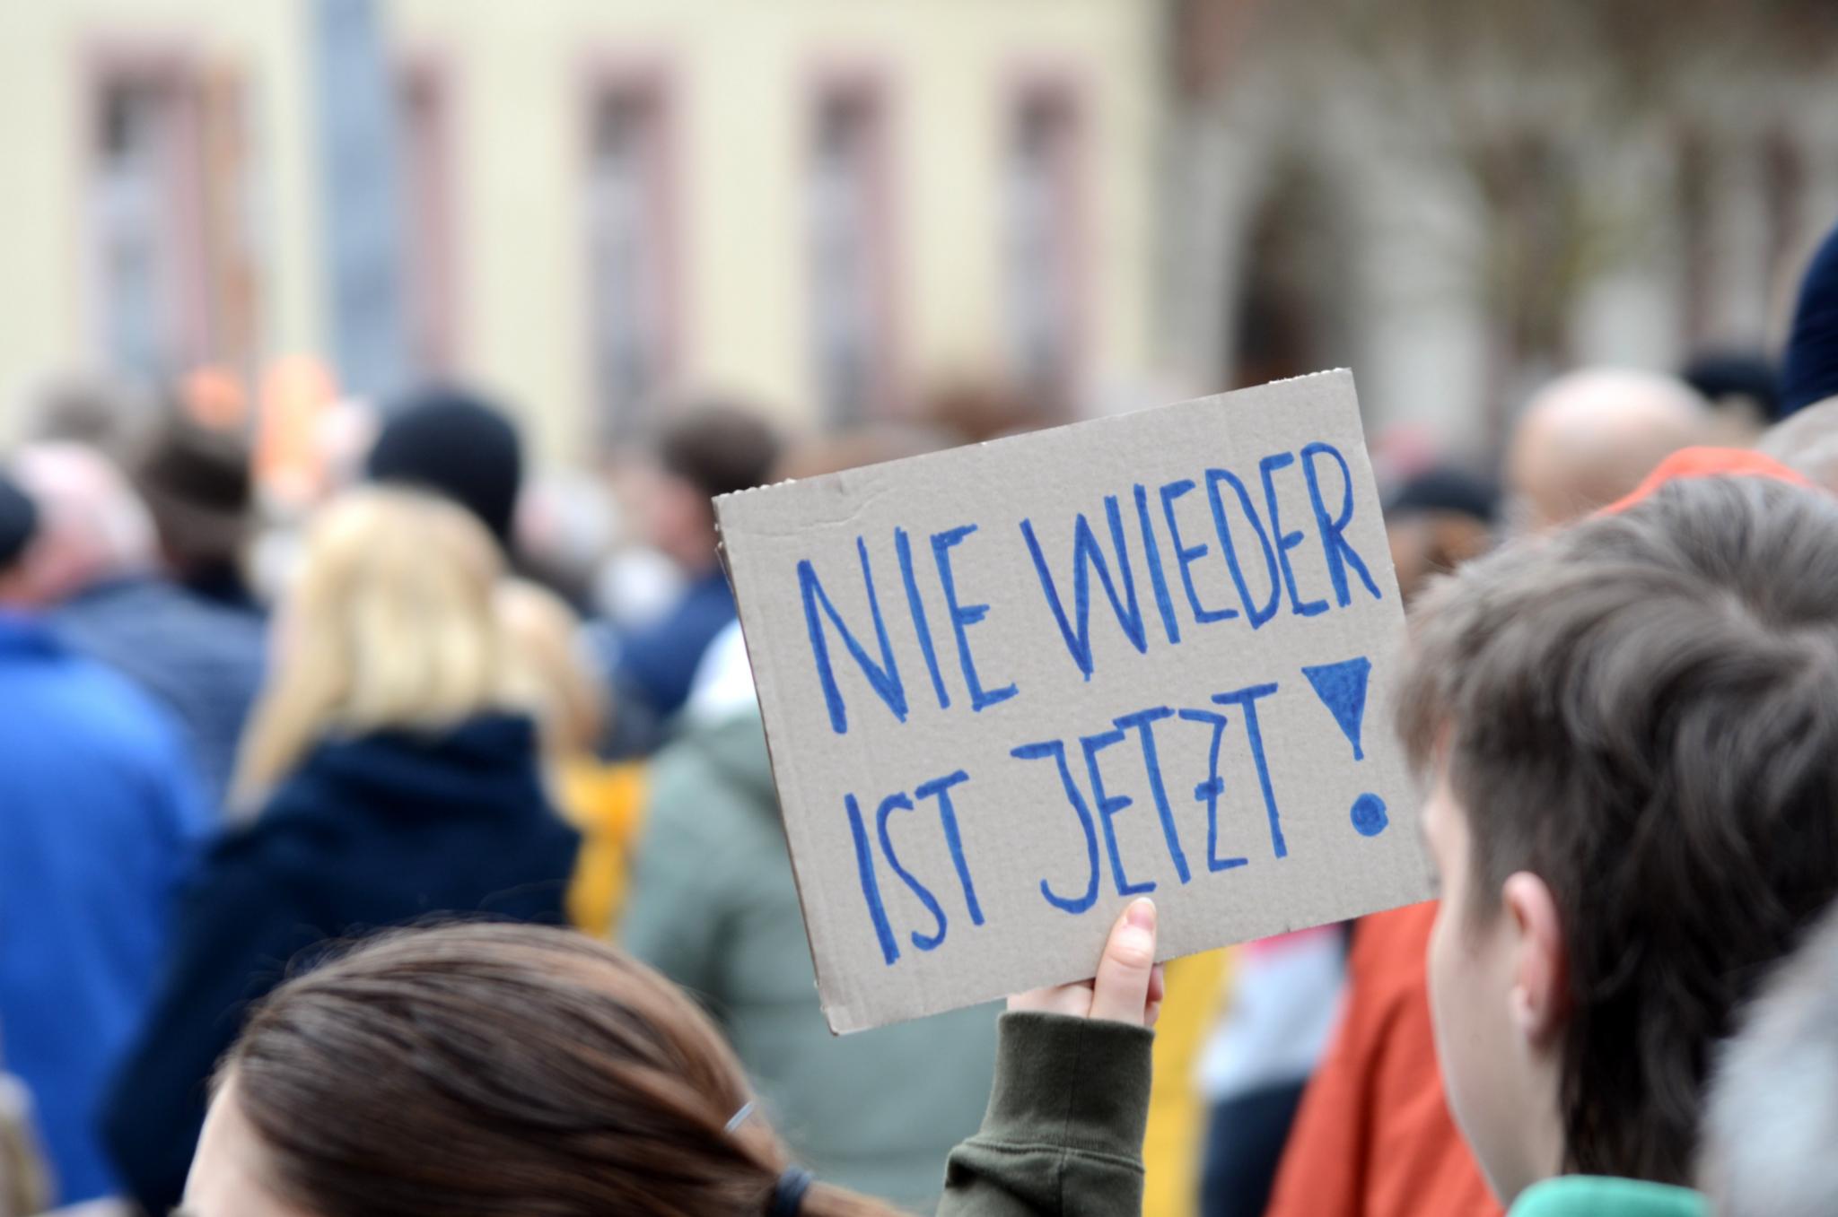
[[[640,433],[673,385],[812,422],[897,415],[952,376],[1070,402],[1151,362],[1163,17],[0,6],[0,396],[70,365],[255,373],[355,338],[377,384],[353,387],[476,378],[548,459]],[[353,149],[366,46],[388,130]]]

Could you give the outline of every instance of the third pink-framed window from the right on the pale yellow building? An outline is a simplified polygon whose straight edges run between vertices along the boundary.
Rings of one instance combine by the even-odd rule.
[[[669,371],[669,184],[656,84],[596,92],[588,141],[588,279],[601,437],[630,439]]]

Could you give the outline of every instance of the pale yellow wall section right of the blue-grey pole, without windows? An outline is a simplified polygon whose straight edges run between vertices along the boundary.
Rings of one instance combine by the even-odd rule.
[[[1160,6],[1149,0],[393,0],[401,40],[460,95],[469,371],[540,419],[542,450],[590,435],[583,301],[583,66],[660,62],[676,88],[684,373],[811,419],[803,165],[814,73],[880,68],[891,90],[904,363],[1004,356],[998,156],[1029,62],[1086,83],[1095,376],[1151,362],[1151,189]]]

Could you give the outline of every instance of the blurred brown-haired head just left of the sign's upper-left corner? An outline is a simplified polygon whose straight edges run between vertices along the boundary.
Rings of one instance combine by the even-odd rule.
[[[779,437],[755,411],[704,402],[669,419],[652,448],[654,477],[640,497],[647,538],[691,575],[715,569],[711,499],[752,490],[779,457]]]

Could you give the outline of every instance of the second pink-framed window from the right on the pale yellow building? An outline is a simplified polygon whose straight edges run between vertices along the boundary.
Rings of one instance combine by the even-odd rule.
[[[831,422],[886,406],[886,106],[868,84],[825,88],[812,134],[811,334],[818,400]]]

